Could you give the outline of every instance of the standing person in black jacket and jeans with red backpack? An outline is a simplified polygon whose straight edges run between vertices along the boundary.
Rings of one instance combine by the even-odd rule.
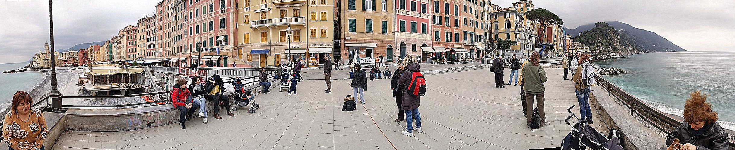
[[[404,59],[403,64],[406,66],[404,69],[403,74],[401,75],[401,78],[398,78],[398,83],[403,85],[402,87],[408,87],[411,85],[412,78],[413,78],[413,72],[419,72],[419,65],[418,61],[413,56],[406,56]],[[404,90],[403,92],[403,102],[401,104],[401,109],[406,110],[406,130],[401,131],[401,134],[413,136],[413,120],[416,120],[416,131],[421,131],[421,116],[418,113],[418,106],[420,105],[420,98],[417,96],[413,96],[408,93],[408,90]]]

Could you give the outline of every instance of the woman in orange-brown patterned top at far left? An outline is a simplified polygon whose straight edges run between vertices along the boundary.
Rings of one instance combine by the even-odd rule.
[[[43,113],[31,108],[31,95],[25,91],[12,96],[12,110],[5,115],[3,141],[10,149],[43,150],[43,140],[49,135]]]

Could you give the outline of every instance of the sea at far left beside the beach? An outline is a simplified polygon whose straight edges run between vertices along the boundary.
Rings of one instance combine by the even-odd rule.
[[[28,62],[0,64],[0,72],[25,67]],[[46,78],[43,72],[0,73],[0,104],[12,100],[15,91],[30,90]]]

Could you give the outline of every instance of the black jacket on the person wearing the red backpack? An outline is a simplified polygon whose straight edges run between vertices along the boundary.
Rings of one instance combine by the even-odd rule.
[[[409,64],[406,66],[401,78],[398,78],[398,83],[402,85],[402,88],[408,87],[411,84],[413,78],[413,72],[419,72],[418,63]],[[401,110],[413,110],[418,108],[420,105],[421,97],[413,96],[408,93],[409,90],[403,90],[403,102],[401,103]]]

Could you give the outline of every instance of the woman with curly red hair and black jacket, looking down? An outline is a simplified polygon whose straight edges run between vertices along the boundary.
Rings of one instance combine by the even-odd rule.
[[[690,96],[684,105],[684,122],[669,133],[666,145],[678,138],[683,144],[681,149],[729,149],[728,132],[717,123],[717,113],[712,111],[712,104],[706,102],[707,95],[695,91]]]

